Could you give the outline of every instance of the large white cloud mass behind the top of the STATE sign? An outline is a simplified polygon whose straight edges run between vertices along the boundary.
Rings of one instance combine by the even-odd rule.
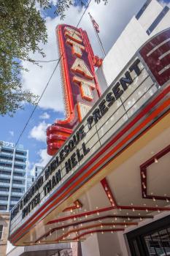
[[[101,40],[104,44],[104,48],[108,51],[128,23],[128,20],[139,11],[144,2],[145,0],[109,0],[109,3],[104,6],[102,2],[101,4],[96,4],[94,0],[91,1],[90,7],[87,12],[85,12],[79,27],[82,27],[82,29],[85,29],[88,32],[91,45],[96,54],[102,56],[93,31],[93,26],[88,17],[88,12],[93,15],[93,18],[98,23]],[[80,7],[74,6],[69,8],[66,12],[66,18],[62,22],[58,17],[53,19],[50,17],[46,18],[48,43],[47,45],[40,45],[40,47],[44,49],[46,60],[58,59],[58,46],[56,44],[55,36],[55,27],[58,23],[67,23],[76,26],[84,10],[84,8],[80,10]],[[38,53],[31,54],[31,58],[35,60],[41,59]],[[41,95],[53,69],[55,68],[56,62],[43,63],[42,68],[36,67],[36,65],[31,64],[28,61],[25,61],[23,65],[30,70],[30,72],[22,72],[21,74],[23,87],[31,90],[34,94]],[[55,74],[39,102],[39,106],[44,109],[50,108],[55,111],[63,112],[63,97],[59,67],[55,70]]]

